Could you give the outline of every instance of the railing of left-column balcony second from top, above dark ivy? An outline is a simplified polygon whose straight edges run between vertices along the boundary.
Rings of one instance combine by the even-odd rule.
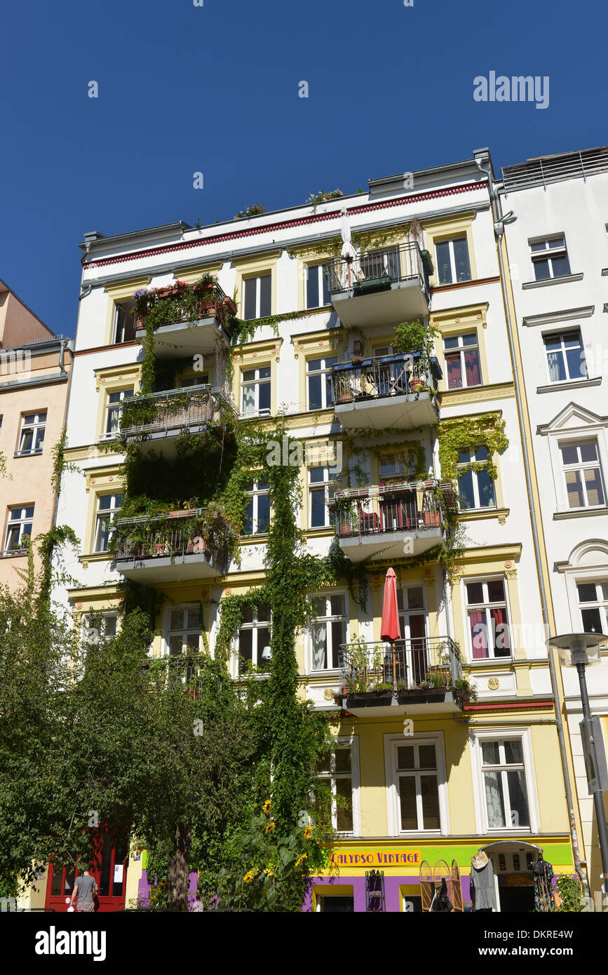
[[[221,424],[237,410],[221,390],[209,385],[169,389],[121,404],[120,438]]]

